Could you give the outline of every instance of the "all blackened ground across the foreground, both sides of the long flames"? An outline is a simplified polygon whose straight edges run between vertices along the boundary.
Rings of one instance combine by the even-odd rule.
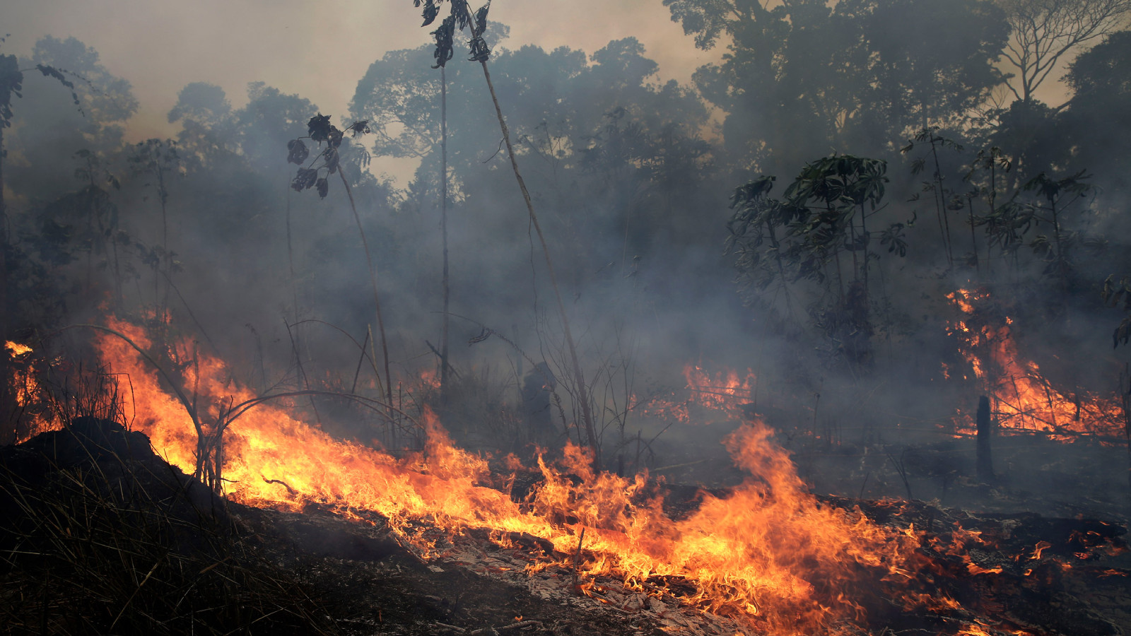
[[[684,607],[698,592],[690,579],[641,582],[649,601],[597,577],[586,599],[563,587],[567,570],[523,570],[539,559],[596,558],[584,547],[556,553],[549,542],[511,533],[512,545],[500,549],[486,531],[449,536],[422,522],[402,532],[459,555],[422,562],[373,513],[353,510],[347,521],[319,505],[282,513],[225,502],[156,457],[144,435],[104,420],[79,419],[7,447],[0,470],[0,612],[8,634],[490,634],[513,626],[627,635],[658,634],[661,625],[674,625],[671,617],[694,614]],[[507,481],[521,501],[539,479],[520,474],[500,483]],[[700,492],[657,484],[641,493],[653,496],[682,517],[694,512]],[[898,590],[883,571],[861,566],[861,585],[851,593],[870,628],[956,634],[981,620],[1035,636],[1108,636],[1131,627],[1131,562],[1120,525],[821,500],[892,528],[925,531],[912,564],[918,575]],[[818,593],[843,592],[814,584]],[[906,592],[923,601],[896,601]],[[927,599],[962,608],[932,609]]]

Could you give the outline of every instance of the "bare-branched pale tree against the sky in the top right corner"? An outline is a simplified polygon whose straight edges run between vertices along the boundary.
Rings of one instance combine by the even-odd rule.
[[[1131,0],[999,0],[1011,29],[1002,55],[1017,69],[1007,84],[1028,102],[1078,46],[1103,37],[1131,11]]]

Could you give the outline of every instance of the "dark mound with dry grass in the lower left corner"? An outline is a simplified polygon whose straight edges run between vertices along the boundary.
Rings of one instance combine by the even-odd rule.
[[[144,436],[67,430],[0,453],[3,634],[336,631],[310,586]]]

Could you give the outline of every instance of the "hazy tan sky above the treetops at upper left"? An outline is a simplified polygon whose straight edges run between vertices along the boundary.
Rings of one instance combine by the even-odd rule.
[[[722,54],[697,50],[661,0],[494,0],[491,18],[510,26],[509,49],[593,53],[633,35],[661,80],[689,81]],[[345,115],[370,63],[430,41],[420,24],[411,0],[3,0],[0,31],[10,35],[0,52],[29,54],[44,35],[93,46],[133,85],[140,110],[127,136],[141,140],[175,132],[166,114],[192,81],[221,86],[234,106],[249,81],[265,81]]]

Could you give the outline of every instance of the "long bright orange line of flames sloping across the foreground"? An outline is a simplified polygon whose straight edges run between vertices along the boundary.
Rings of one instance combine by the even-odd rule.
[[[121,321],[111,327],[143,349],[152,345],[137,327]],[[105,362],[130,377],[135,429],[172,464],[193,471],[197,433],[184,406],[121,338],[100,334],[96,345]],[[232,383],[219,361],[197,355],[185,366],[184,384],[196,387],[197,404],[210,405],[201,409],[207,428],[222,407],[254,396]],[[733,392],[718,393],[737,399],[742,386],[739,381]],[[860,592],[882,579],[899,594],[918,562],[920,532],[878,525],[858,509],[822,505],[761,422],[741,427],[726,441],[750,476],[728,497],[702,493],[699,509],[683,519],[664,514],[647,474],[598,473],[576,446],[568,446],[558,463],[539,457],[543,483],[516,502],[498,488],[500,479],[486,459],[452,445],[431,413],[424,413],[421,426],[423,452],[396,457],[333,439],[284,405],[260,404],[224,436],[227,496],[264,507],[318,502],[345,514],[375,512],[425,558],[441,556],[443,548],[434,534],[418,531],[423,526],[451,536],[486,530],[500,543],[508,533],[526,533],[551,543],[556,555],[530,569],[573,568],[579,586],[590,593],[596,575],[619,577],[638,591],[665,581],[689,582],[698,592],[685,602],[744,617],[774,635],[823,634],[836,621],[862,620]]]

